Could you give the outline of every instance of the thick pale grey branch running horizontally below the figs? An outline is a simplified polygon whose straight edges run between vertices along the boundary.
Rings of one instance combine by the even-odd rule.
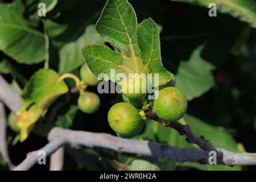
[[[73,131],[54,127],[48,135],[49,143],[38,151],[45,151],[46,155],[53,154],[59,147],[104,147],[117,152],[156,156],[173,160],[174,162],[195,162],[208,164],[208,151],[196,148],[180,148],[163,143],[154,143],[147,140],[122,139],[105,133],[92,133],[88,131]],[[14,170],[28,170],[37,163],[38,151],[31,152],[27,158]],[[217,164],[256,165],[256,153],[235,153],[217,148],[222,152],[223,158],[217,159]]]

